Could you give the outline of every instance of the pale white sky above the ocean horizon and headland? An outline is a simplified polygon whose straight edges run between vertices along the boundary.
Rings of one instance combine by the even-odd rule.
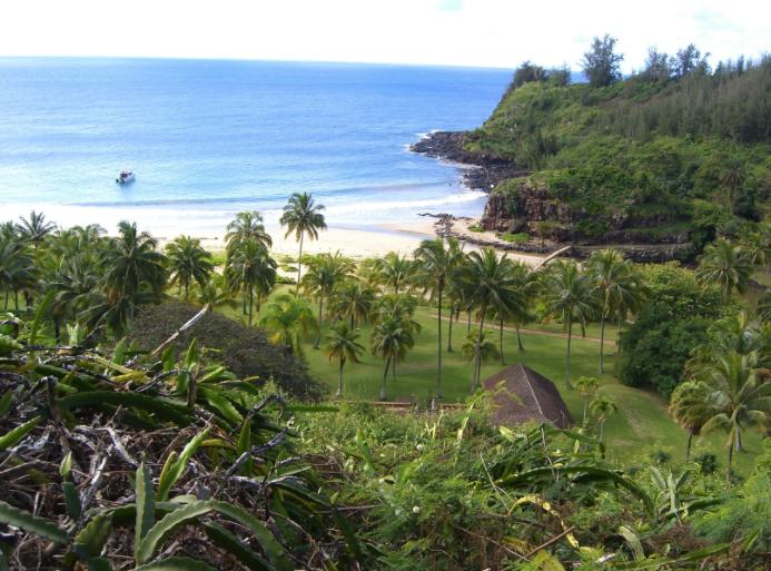
[[[610,33],[639,69],[649,46],[711,61],[771,49],[762,0],[4,0],[0,56],[355,61],[577,69]]]

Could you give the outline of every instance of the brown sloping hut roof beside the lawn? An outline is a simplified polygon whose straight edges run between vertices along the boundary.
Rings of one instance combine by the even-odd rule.
[[[513,365],[484,381],[485,391],[497,391],[493,421],[512,425],[551,422],[560,429],[573,424],[560,392],[548,378],[522,364]]]

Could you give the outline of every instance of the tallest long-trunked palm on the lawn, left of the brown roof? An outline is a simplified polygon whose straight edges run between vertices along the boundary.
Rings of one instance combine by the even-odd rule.
[[[424,240],[415,250],[417,272],[416,283],[425,284],[425,289],[431,293],[431,298],[436,299],[436,392],[442,397],[442,294],[452,274],[457,269],[463,253],[456,238],[449,238],[445,246],[444,240]],[[452,327],[452,312],[449,326]]]

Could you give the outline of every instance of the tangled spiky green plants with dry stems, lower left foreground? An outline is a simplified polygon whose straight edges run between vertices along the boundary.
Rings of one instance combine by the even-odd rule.
[[[0,570],[356,568],[287,408],[194,341],[158,361],[0,337]],[[22,335],[19,335],[19,331]],[[130,562],[130,563],[129,563]]]

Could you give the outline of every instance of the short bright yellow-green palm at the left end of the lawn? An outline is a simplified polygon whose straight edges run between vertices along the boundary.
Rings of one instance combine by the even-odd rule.
[[[308,303],[294,294],[283,294],[268,304],[261,325],[270,332],[270,342],[300,355],[303,339],[318,327]]]

